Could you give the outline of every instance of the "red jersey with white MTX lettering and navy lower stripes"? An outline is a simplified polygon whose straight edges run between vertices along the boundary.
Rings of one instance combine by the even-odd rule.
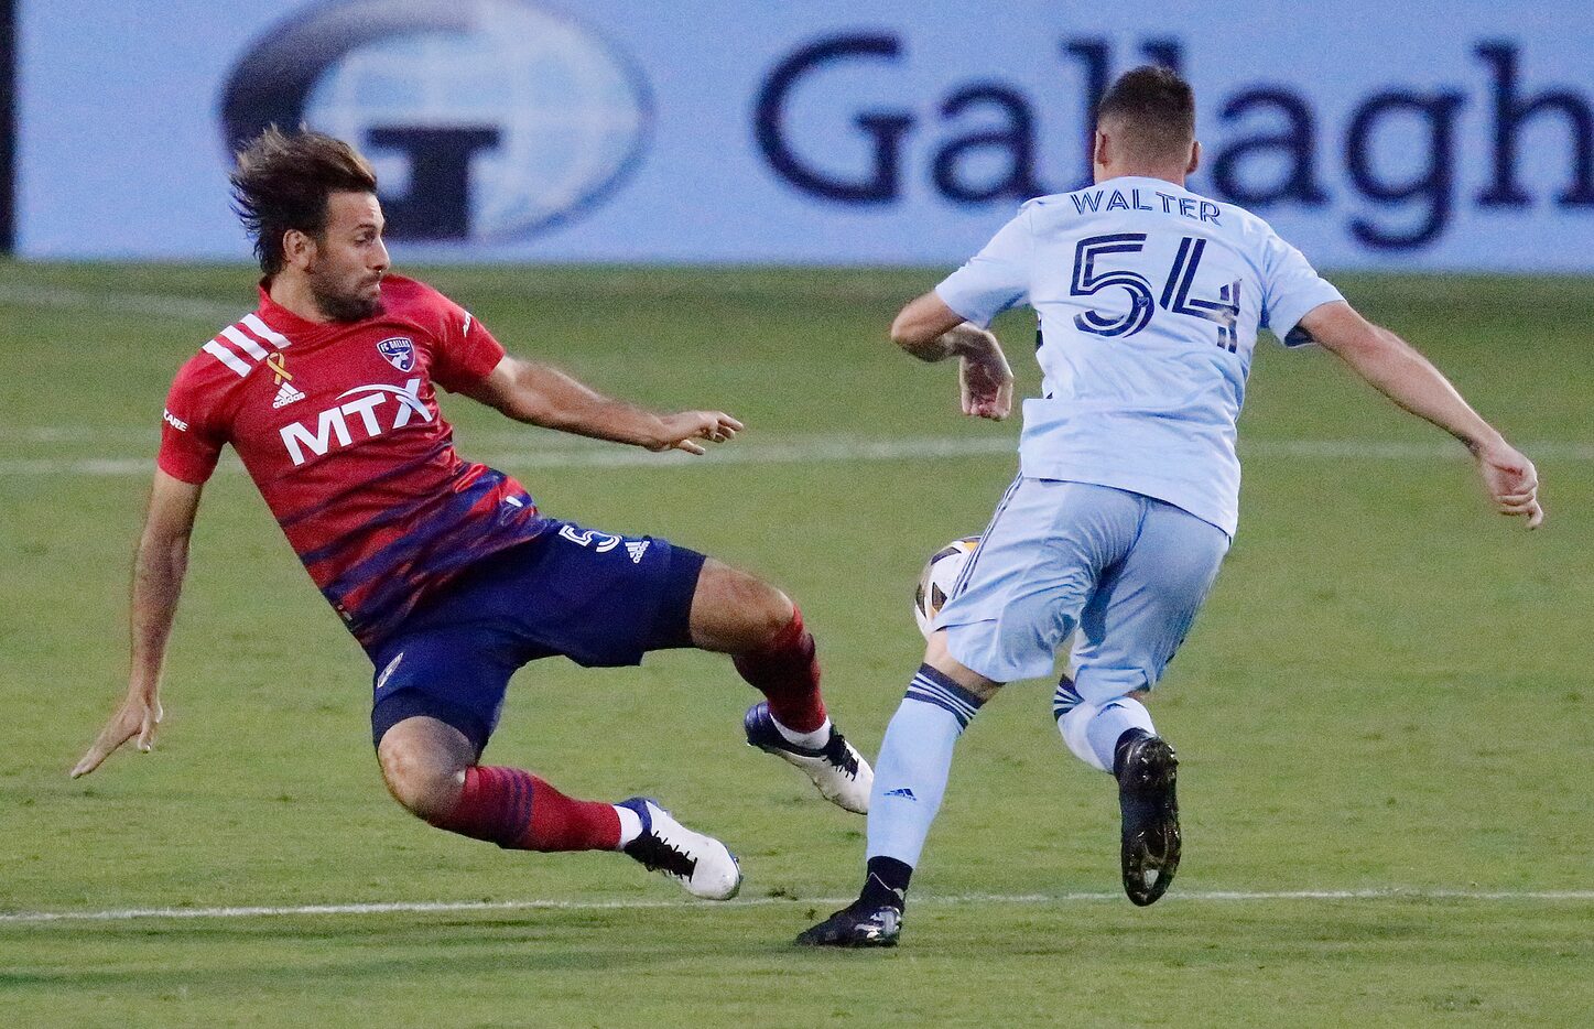
[[[158,458],[201,483],[231,444],[367,648],[459,571],[547,525],[518,482],[454,453],[432,388],[470,388],[504,348],[429,286],[391,274],[381,298],[359,322],[308,322],[261,289],[255,313],[177,373]]]

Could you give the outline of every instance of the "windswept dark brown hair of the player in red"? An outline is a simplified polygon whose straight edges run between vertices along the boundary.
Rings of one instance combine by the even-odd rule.
[[[266,128],[236,153],[233,211],[255,241],[260,270],[282,270],[282,233],[298,230],[316,239],[327,231],[327,198],[332,193],[375,193],[376,172],[370,161],[341,139]]]

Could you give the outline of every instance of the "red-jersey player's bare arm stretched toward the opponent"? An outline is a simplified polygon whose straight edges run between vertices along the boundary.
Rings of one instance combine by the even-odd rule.
[[[558,369],[516,357],[504,357],[467,396],[515,421],[647,450],[701,455],[703,442],[724,444],[743,429],[725,412],[655,415],[606,397]]]

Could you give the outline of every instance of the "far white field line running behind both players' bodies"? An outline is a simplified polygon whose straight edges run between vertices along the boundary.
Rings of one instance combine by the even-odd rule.
[[[110,436],[110,434],[107,434]],[[148,475],[155,467],[153,432],[140,432],[150,442],[143,456],[116,458],[3,458],[0,477],[5,475]],[[129,432],[131,437],[131,432]],[[69,444],[104,439],[75,436],[67,429],[33,428],[0,431],[0,442],[18,444]],[[494,444],[508,440],[494,437]],[[504,471],[548,467],[668,467],[700,464],[722,467],[735,464],[808,464],[821,461],[905,461],[937,458],[1017,458],[1017,445],[1011,437],[913,437],[913,439],[787,439],[768,444],[732,444],[716,448],[703,458],[684,453],[649,453],[633,447],[553,445],[540,442],[536,450],[505,450],[481,456],[493,467]],[[1541,440],[1524,445],[1540,464],[1549,461],[1594,461],[1594,442]],[[464,442],[467,458],[473,458],[470,440]],[[1466,453],[1455,444],[1408,444],[1388,440],[1310,440],[1310,439],[1262,439],[1240,444],[1242,458],[1304,459],[1304,461],[1462,461]],[[223,463],[223,469],[242,471],[236,461]]]

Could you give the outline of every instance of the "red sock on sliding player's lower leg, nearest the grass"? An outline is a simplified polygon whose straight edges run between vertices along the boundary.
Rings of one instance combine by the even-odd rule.
[[[620,815],[612,804],[575,801],[531,772],[465,769],[465,788],[440,830],[488,839],[508,850],[614,850]]]

